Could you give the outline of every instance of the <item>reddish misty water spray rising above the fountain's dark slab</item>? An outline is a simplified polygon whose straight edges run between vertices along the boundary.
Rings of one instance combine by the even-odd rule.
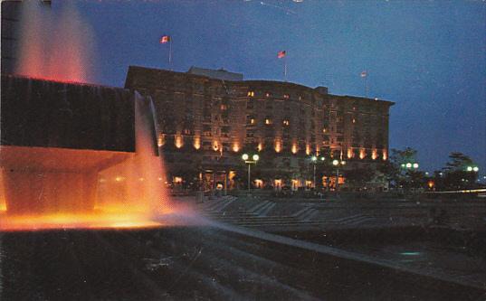
[[[15,73],[44,80],[88,82],[92,65],[89,24],[71,1],[57,7],[24,1]]]

